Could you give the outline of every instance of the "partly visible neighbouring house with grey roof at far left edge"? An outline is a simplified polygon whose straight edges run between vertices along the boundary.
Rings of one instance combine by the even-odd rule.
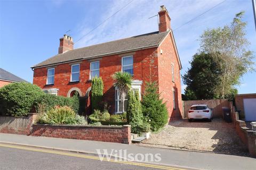
[[[13,82],[27,82],[18,76],[0,68],[0,88]]]

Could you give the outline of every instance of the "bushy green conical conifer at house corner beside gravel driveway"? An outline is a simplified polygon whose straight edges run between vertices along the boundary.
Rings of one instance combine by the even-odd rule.
[[[150,129],[153,132],[159,131],[167,123],[167,108],[159,97],[156,82],[146,82],[145,94],[142,100],[142,113],[150,123]]]

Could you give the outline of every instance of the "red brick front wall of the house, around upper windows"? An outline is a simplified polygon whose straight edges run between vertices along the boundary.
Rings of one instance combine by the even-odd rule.
[[[129,55],[129,54],[127,54]],[[150,48],[144,50],[138,50],[133,54],[133,72],[134,80],[142,80],[143,92],[145,89],[145,82],[158,81],[158,61],[157,61],[157,48]],[[113,86],[114,81],[111,77],[115,72],[122,69],[122,56],[112,55],[99,58],[100,61],[100,77],[104,83],[104,95],[103,100],[107,101],[110,107],[110,112],[115,111],[115,88]],[[89,80],[90,74],[90,61],[84,60],[80,63],[80,81],[70,82],[71,65],[60,64],[55,67],[54,85],[46,85],[47,68],[38,68],[34,70],[33,83],[42,89],[58,88],[58,95],[67,96],[68,91],[73,88],[79,88],[84,96],[87,89],[91,87],[91,81]]]

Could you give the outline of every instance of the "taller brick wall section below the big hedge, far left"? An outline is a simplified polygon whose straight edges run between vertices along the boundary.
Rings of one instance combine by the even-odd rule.
[[[35,114],[22,117],[0,116],[0,133],[29,134],[35,118]]]

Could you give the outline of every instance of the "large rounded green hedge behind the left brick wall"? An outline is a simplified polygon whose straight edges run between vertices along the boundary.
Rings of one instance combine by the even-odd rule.
[[[78,113],[79,97],[45,94],[38,86],[25,82],[0,88],[0,115],[27,116],[29,112],[38,111],[39,107],[47,112],[54,106],[68,106]]]

